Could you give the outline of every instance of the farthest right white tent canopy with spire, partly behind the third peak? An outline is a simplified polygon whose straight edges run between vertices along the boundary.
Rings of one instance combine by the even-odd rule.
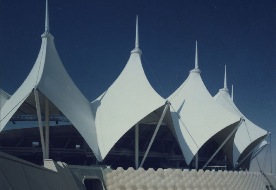
[[[235,167],[236,163],[243,159],[243,157],[255,146],[257,146],[257,144],[267,135],[267,131],[253,124],[236,107],[233,99],[229,95],[229,90],[227,88],[226,66],[224,76],[224,87],[220,89],[218,94],[213,98],[229,112],[244,118],[244,122],[240,125],[235,134],[233,151],[227,150],[228,155],[231,155],[231,153],[233,154],[232,164]]]

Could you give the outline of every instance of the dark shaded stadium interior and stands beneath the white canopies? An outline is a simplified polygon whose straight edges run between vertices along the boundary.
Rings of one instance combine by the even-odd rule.
[[[43,95],[41,95],[41,99]],[[36,115],[22,115],[22,110],[26,105],[35,109],[30,102],[32,98],[25,100],[25,105],[21,106],[10,119],[10,122],[16,126],[18,121],[37,122]],[[41,101],[42,102],[42,101]],[[54,107],[52,103],[50,103]],[[21,110],[21,111],[20,111]],[[134,127],[129,129],[127,133],[119,139],[107,154],[103,162],[98,162],[92,150],[89,148],[84,138],[78,132],[70,121],[61,113],[54,109],[54,116],[50,115],[50,121],[55,121],[56,124],[62,122],[65,125],[50,126],[50,150],[49,157],[55,161],[65,162],[72,165],[108,165],[116,169],[117,167],[135,167],[134,163]],[[21,113],[21,114],[20,114]],[[60,114],[59,116],[57,114]],[[155,114],[158,115],[156,112]],[[42,113],[42,120],[45,117]],[[142,120],[141,120],[142,121]],[[149,145],[149,141],[154,133],[157,123],[139,124],[139,161],[143,158],[145,150]],[[45,127],[43,127],[45,135]],[[233,138],[233,137],[232,137]],[[7,154],[14,155],[18,158],[30,161],[32,163],[42,165],[42,148],[40,132],[38,127],[22,128],[22,129],[5,129],[0,133],[1,151]],[[228,142],[230,143],[230,142]],[[198,168],[201,168],[208,158],[218,148],[218,143],[209,139],[204,146],[198,151]],[[224,155],[223,150],[209,163],[205,169],[215,170],[231,170],[233,166],[229,163]],[[195,168],[194,160],[187,165],[174,135],[170,129],[162,122],[157,135],[150,148],[149,154],[145,159],[143,168]],[[242,166],[245,169],[244,166]],[[239,168],[240,169],[240,168]]]

